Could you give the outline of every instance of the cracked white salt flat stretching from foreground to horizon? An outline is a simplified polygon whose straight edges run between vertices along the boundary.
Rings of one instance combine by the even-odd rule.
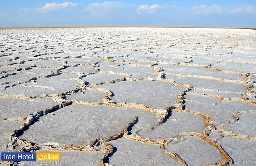
[[[61,165],[255,164],[254,30],[0,33],[1,152],[58,151]]]

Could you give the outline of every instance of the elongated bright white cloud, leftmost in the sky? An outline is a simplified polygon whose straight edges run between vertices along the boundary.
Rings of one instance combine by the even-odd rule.
[[[64,2],[64,3],[46,3],[45,6],[41,7],[41,8],[37,8],[35,10],[35,12],[42,12],[42,13],[47,13],[49,11],[53,11],[53,10],[58,10],[58,9],[66,9],[68,7],[76,7],[79,4],[77,3],[72,3],[72,2]]]

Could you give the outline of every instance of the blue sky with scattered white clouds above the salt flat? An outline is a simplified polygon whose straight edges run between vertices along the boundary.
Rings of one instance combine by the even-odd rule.
[[[256,0],[0,0],[0,27],[256,27]]]

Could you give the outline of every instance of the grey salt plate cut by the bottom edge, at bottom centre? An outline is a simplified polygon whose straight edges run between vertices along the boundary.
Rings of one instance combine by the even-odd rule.
[[[159,145],[150,145],[129,139],[117,139],[109,142],[114,153],[109,157],[112,165],[149,165],[149,166],[181,166],[173,158],[164,154]]]

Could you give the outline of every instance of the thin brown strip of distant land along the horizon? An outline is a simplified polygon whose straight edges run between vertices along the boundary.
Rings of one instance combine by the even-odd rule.
[[[178,27],[178,26],[45,26],[45,27],[0,27],[0,29],[21,28],[217,28],[217,29],[253,29],[252,27]]]

